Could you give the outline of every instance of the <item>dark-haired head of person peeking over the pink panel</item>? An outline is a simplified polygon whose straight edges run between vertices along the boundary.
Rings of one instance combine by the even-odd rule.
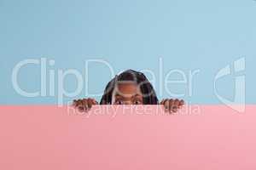
[[[142,72],[124,71],[108,82],[101,105],[156,105],[154,88]]]

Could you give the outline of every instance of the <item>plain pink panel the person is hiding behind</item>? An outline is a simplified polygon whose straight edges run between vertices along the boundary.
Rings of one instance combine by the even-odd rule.
[[[49,105],[0,106],[0,169],[256,169],[256,105],[243,114],[192,106],[172,116],[155,114],[155,106],[144,114],[106,107],[82,115]]]

